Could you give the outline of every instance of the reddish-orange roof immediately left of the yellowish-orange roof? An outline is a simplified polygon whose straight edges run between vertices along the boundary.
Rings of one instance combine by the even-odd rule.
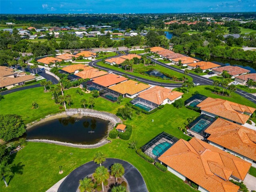
[[[111,86],[111,85],[114,85],[114,84],[117,84],[117,83],[120,83],[120,82],[123,82],[126,80],[128,80],[128,78],[111,73],[111,74],[107,74],[104,76],[96,77],[93,79],[92,82],[94,82],[98,85],[104,86],[104,87],[108,87],[108,86]]]

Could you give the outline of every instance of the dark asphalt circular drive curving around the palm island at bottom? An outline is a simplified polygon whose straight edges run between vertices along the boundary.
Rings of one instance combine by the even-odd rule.
[[[120,163],[124,166],[124,178],[126,178],[130,192],[148,192],[146,183],[140,172],[130,163],[114,158],[107,158],[102,164],[110,170],[114,163]],[[90,176],[99,165],[90,161],[73,170],[58,188],[58,192],[76,192],[79,187],[79,180]]]

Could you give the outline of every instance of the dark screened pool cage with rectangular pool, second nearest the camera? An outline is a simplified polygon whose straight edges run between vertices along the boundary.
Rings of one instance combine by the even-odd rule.
[[[192,132],[205,137],[206,133],[204,130],[206,130],[215,120],[216,118],[214,117],[202,114],[189,124],[189,128]]]

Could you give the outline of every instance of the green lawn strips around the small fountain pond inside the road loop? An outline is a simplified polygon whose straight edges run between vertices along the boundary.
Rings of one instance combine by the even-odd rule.
[[[125,71],[125,70],[123,70],[122,68],[118,68],[118,67],[115,67],[115,66],[112,66],[112,65],[109,65],[109,64],[105,64],[105,63],[103,63],[103,62],[98,62],[97,64],[98,64],[99,66],[107,67],[107,68],[113,69],[113,70],[118,70],[118,71],[120,71],[120,72],[125,72],[126,74],[131,74],[131,75],[138,76],[138,77],[140,77],[140,78],[145,78],[145,79],[148,79],[148,80],[153,80],[153,81],[163,82],[163,83],[180,83],[180,82],[177,82],[177,81],[163,80],[163,79],[158,79],[158,78],[146,76],[146,75],[143,75],[143,74],[140,74],[140,73],[136,73],[136,72]],[[143,66],[144,66],[143,64],[137,64],[137,65],[134,65],[133,68],[140,68],[140,67],[143,67]],[[176,76],[177,78],[181,78],[181,77],[184,76],[184,74],[182,74],[182,73],[173,71],[173,70],[171,70],[171,69],[168,69],[168,68],[166,68],[166,67],[160,66],[160,65],[158,65],[158,64],[156,64],[156,66],[153,66],[153,67],[154,67],[156,70],[165,72],[165,73],[170,74],[170,75],[174,75],[174,76]],[[188,77],[188,79],[189,79],[189,80],[192,80],[191,77]]]

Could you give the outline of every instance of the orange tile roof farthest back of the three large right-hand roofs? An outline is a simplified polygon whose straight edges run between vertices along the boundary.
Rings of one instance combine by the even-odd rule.
[[[255,108],[248,107],[245,105],[237,104],[222,99],[206,98],[200,104],[197,105],[200,110],[209,112],[216,116],[238,122],[240,124],[245,124],[250,118],[249,115],[242,114],[242,112],[253,113]]]

